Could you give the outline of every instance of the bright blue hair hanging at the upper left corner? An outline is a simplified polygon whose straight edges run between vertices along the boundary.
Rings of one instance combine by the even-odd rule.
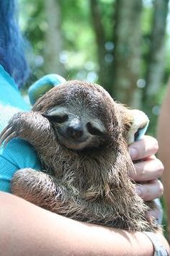
[[[0,0],[0,64],[20,88],[29,76],[15,0]]]

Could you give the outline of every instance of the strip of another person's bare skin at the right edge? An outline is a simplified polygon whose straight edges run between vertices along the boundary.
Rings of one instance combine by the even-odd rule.
[[[162,182],[164,184],[164,197],[166,199],[166,209],[168,217],[168,231],[169,231],[169,242],[170,242],[170,81],[166,92],[166,97],[161,106],[161,114],[158,119],[158,143],[159,150],[158,156],[164,163],[164,174],[162,176]]]

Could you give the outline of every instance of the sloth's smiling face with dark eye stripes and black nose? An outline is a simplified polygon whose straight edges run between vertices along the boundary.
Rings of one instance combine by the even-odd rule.
[[[44,114],[61,145],[71,150],[99,148],[107,138],[103,122],[89,108],[55,106]]]

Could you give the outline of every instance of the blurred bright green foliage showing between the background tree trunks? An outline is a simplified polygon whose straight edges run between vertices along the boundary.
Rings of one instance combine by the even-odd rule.
[[[57,1],[57,0],[55,0]],[[58,61],[64,65],[66,79],[89,80],[99,82],[99,62],[97,56],[97,41],[91,21],[91,7],[89,1],[81,0],[58,0],[61,12],[61,36],[63,46]],[[114,48],[114,27],[115,27],[115,1],[98,0],[101,12],[102,25],[107,46]],[[31,77],[28,85],[42,75],[46,74],[45,66],[45,34],[48,30],[47,16],[45,14],[45,2],[42,0],[19,0],[19,24],[30,43],[27,51],[27,59],[30,61]],[[145,83],[145,74],[148,70],[149,51],[151,45],[151,30],[153,16],[153,1],[143,0],[143,11],[141,16],[141,64],[140,77]],[[149,132],[155,135],[156,117],[158,116],[166,82],[170,72],[170,38],[169,38],[169,15],[167,18],[164,77],[161,86],[156,93],[152,114],[150,113],[151,126]],[[109,45],[110,43],[110,45]],[[107,47],[105,46],[105,47]],[[57,42],[56,42],[57,47]],[[111,49],[112,50],[112,49]],[[108,51],[109,53],[109,51]],[[112,55],[108,55],[111,58]],[[110,62],[114,61],[112,58]],[[145,85],[140,86],[141,93]],[[143,108],[143,107],[142,107]],[[147,109],[144,108],[147,112]]]

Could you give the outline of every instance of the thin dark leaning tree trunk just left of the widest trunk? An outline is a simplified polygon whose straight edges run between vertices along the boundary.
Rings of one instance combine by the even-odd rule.
[[[91,20],[94,26],[94,33],[97,41],[97,56],[99,61],[99,84],[102,85],[109,93],[112,90],[112,51],[107,55],[105,43],[107,42],[102,25],[102,16],[97,0],[90,0]],[[108,59],[107,59],[108,57]]]

